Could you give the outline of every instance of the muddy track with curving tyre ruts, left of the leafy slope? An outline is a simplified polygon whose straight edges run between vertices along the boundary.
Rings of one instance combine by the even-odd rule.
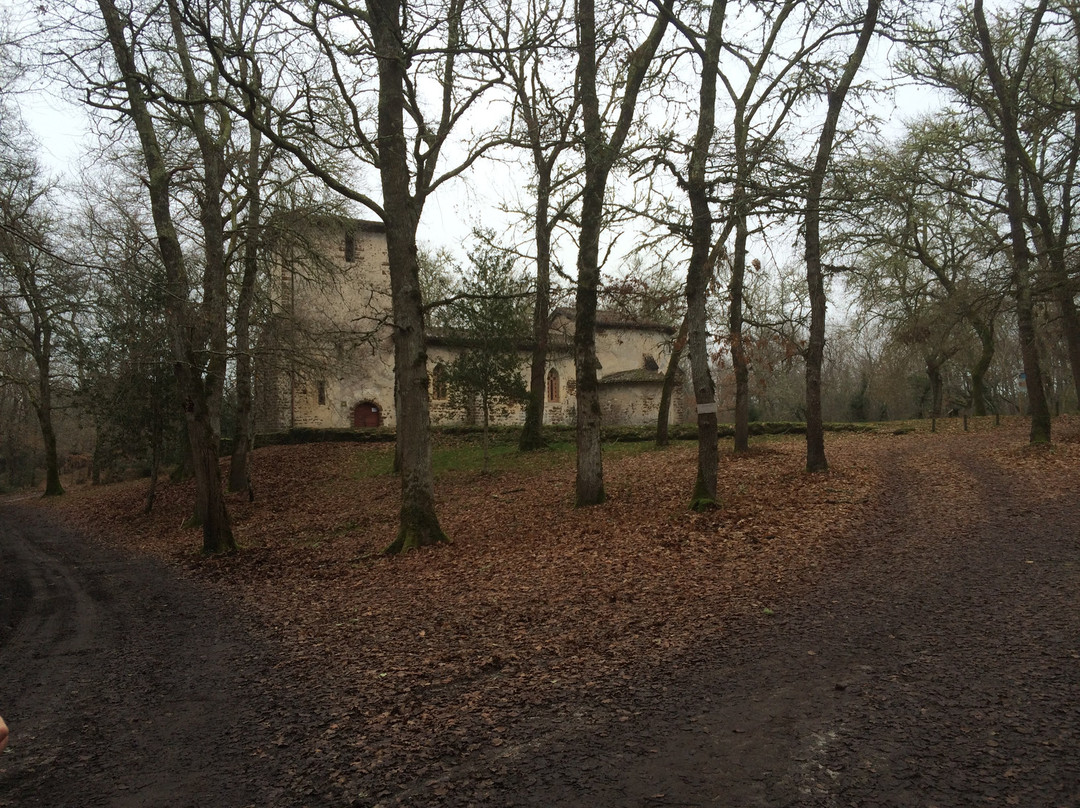
[[[298,705],[228,598],[4,508],[0,603],[0,806],[303,803]]]

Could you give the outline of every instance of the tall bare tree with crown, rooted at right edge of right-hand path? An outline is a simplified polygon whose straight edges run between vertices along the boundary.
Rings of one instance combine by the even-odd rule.
[[[975,3],[947,16],[944,33],[939,32],[941,23],[915,29],[904,67],[947,91],[968,115],[969,125],[983,132],[982,148],[995,163],[984,179],[997,193],[991,202],[1005,221],[1010,244],[1030,437],[1049,442],[1037,318],[1047,291],[1059,310],[1075,387],[1080,378],[1080,318],[1067,264],[1077,227],[1080,118],[1074,64],[1080,18],[1068,3],[1020,4],[993,18],[983,3]]]

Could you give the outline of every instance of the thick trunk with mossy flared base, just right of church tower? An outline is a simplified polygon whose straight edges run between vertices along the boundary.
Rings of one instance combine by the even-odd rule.
[[[428,351],[417,265],[419,210],[409,196],[405,137],[405,64],[400,0],[367,0],[379,69],[379,175],[390,261],[394,317],[394,382],[397,386],[397,452],[402,506],[397,538],[388,553],[446,541],[435,515],[431,472]]]

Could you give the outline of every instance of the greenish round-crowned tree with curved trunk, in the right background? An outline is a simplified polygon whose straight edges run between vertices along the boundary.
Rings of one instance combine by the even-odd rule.
[[[924,296],[967,322],[978,341],[970,405],[986,415],[985,378],[1008,286],[998,271],[1005,245],[998,202],[980,190],[983,135],[956,118],[939,112],[914,121],[896,144],[845,162],[840,183],[852,201],[841,205],[841,238],[860,255],[849,283],[865,296],[865,309],[885,304],[903,313],[903,298]]]

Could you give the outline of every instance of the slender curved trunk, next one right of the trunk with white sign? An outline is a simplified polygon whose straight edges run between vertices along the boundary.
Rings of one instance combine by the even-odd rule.
[[[840,111],[847,99],[851,83],[859,72],[863,56],[869,46],[870,37],[877,26],[877,15],[881,0],[867,0],[866,15],[855,49],[843,66],[843,73],[836,87],[828,93],[828,111],[818,138],[818,154],[810,172],[806,198],[806,264],[807,291],[810,297],[810,335],[807,342],[807,471],[824,471],[828,468],[825,458],[825,426],[821,415],[821,373],[825,359],[825,275],[821,262],[821,197],[825,185],[825,174],[833,156],[836,142],[836,126]]]

